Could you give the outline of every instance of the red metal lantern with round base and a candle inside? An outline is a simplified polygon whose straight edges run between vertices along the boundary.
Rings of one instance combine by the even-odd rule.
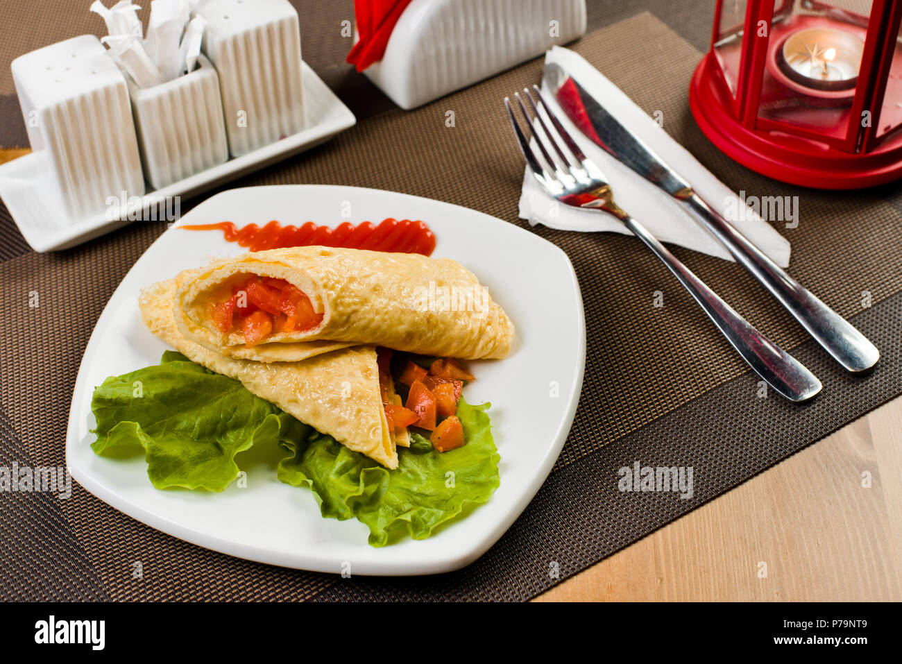
[[[870,5],[858,14],[842,5]],[[855,189],[902,176],[897,0],[717,0],[695,122],[771,178]]]

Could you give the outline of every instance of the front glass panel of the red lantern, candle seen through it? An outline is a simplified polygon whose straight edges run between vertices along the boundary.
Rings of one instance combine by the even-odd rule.
[[[761,78],[759,128],[807,130],[840,142],[870,14],[870,0],[777,0]]]

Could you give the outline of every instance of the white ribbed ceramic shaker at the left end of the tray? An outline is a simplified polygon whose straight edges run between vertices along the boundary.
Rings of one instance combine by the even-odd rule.
[[[143,196],[144,179],[125,77],[93,35],[13,60],[32,151],[73,221],[110,197]]]

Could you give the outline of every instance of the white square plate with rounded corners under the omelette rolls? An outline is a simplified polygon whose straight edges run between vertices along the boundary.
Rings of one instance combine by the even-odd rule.
[[[350,218],[342,218],[351,211]],[[144,327],[138,292],[213,257],[244,252],[218,231],[179,226],[233,221],[238,226],[306,221],[337,226],[386,217],[425,221],[437,238],[433,256],[472,270],[508,312],[517,332],[511,355],[469,363],[471,403],[491,401],[501,454],[501,486],[488,503],[425,540],[405,536],[375,549],[356,520],[320,516],[306,489],[282,484],[271,467],[247,468],[247,487],[223,493],[154,489],[143,456],[97,457],[90,444],[94,387],[110,375],[159,364],[167,348]],[[90,284],[85,285],[86,288]],[[231,189],[192,209],[134,264],[97,320],[78,370],[69,412],[66,460],[88,491],[138,521],[231,556],[284,567],[353,574],[446,572],[479,558],[520,515],[554,465],[573,422],[583,384],[585,323],[573,266],[554,244],[467,208],[406,194],[296,185]],[[239,457],[240,461],[240,457]]]

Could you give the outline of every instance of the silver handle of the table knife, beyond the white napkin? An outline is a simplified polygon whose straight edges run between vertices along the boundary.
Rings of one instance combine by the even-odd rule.
[[[677,198],[732,256],[776,297],[824,350],[852,374],[868,371],[880,353],[867,337],[780,268],[698,195]]]

